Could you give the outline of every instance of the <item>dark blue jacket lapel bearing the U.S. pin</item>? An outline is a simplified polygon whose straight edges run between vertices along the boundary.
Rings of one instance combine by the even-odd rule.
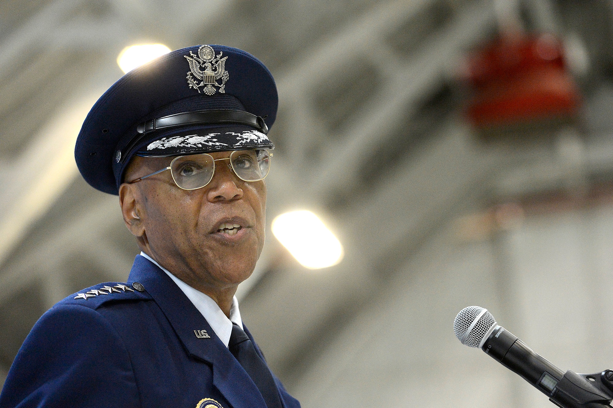
[[[213,385],[233,408],[266,408],[251,377],[221,342],[185,293],[150,260],[137,255],[128,278],[140,282],[177,333],[188,355],[213,367]],[[206,330],[210,338],[198,338],[194,330]]]

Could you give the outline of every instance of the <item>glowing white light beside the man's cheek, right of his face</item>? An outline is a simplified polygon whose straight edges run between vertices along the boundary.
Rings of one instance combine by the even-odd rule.
[[[272,233],[306,268],[327,268],[343,259],[343,246],[311,211],[281,214],[272,222]]]

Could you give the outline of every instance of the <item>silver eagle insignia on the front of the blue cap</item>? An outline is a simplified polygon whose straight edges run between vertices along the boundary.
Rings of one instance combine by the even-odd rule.
[[[219,93],[226,93],[226,81],[230,74],[226,71],[227,56],[221,58],[223,52],[219,51],[219,55],[215,55],[213,47],[210,45],[201,45],[198,49],[198,55],[189,51],[189,55],[184,55],[188,60],[189,71],[188,80],[189,88],[194,88],[200,93],[208,96],[216,93],[219,88]],[[221,81],[221,83],[219,83]],[[217,88],[216,88],[217,87]]]

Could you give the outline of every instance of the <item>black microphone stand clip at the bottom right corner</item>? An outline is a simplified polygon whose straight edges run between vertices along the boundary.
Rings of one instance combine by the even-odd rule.
[[[568,370],[549,397],[549,401],[560,408],[611,408],[613,370],[595,374],[577,374]]]

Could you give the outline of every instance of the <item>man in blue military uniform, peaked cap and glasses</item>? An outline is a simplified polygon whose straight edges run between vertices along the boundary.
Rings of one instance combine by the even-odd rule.
[[[142,252],[128,282],[70,295],[32,328],[0,407],[299,408],[234,297],[264,245],[268,69],[236,48],[173,51],[118,80],[75,148]]]

